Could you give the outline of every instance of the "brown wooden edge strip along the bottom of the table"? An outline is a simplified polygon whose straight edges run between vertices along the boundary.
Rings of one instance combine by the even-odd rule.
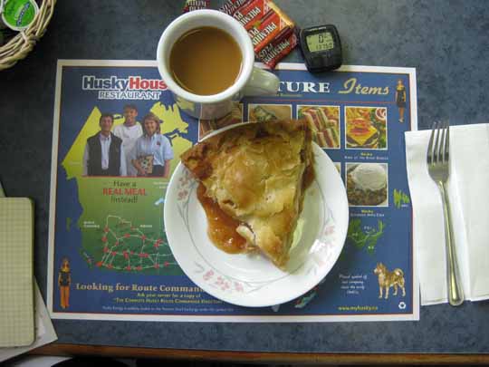
[[[134,348],[69,343],[47,344],[34,349],[30,354],[292,364],[356,364],[363,362],[376,364],[489,364],[489,354],[478,353],[274,353]]]

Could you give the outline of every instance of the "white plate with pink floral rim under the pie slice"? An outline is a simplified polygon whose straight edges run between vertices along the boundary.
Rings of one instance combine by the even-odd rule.
[[[328,155],[315,143],[313,153],[316,178],[306,190],[285,271],[261,254],[231,255],[214,246],[197,199],[197,180],[178,164],[167,188],[165,228],[173,256],[192,282],[227,303],[262,307],[303,295],[331,271],[347,235],[348,199]]]

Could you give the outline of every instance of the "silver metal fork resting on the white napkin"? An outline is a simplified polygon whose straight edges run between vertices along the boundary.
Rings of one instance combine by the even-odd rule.
[[[436,137],[435,137],[436,135]],[[435,143],[433,142],[435,140]],[[445,243],[446,243],[446,275],[448,278],[448,302],[451,305],[459,305],[464,302],[464,292],[460,283],[460,274],[456,261],[452,218],[450,216],[450,202],[446,192],[446,181],[449,176],[449,140],[450,125],[448,123],[435,122],[431,131],[427,149],[427,169],[429,176],[436,182],[440,189],[443,202],[443,214],[445,218]]]

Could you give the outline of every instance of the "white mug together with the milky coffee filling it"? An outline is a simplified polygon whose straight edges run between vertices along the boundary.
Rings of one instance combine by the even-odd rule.
[[[194,10],[168,24],[157,62],[179,111],[202,120],[225,116],[244,96],[276,95],[280,85],[254,66],[245,27],[216,10]]]

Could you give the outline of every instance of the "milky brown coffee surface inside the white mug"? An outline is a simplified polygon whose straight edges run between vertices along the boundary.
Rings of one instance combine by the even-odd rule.
[[[239,45],[222,29],[204,26],[191,29],[174,43],[169,57],[173,79],[198,95],[224,92],[241,72]]]

